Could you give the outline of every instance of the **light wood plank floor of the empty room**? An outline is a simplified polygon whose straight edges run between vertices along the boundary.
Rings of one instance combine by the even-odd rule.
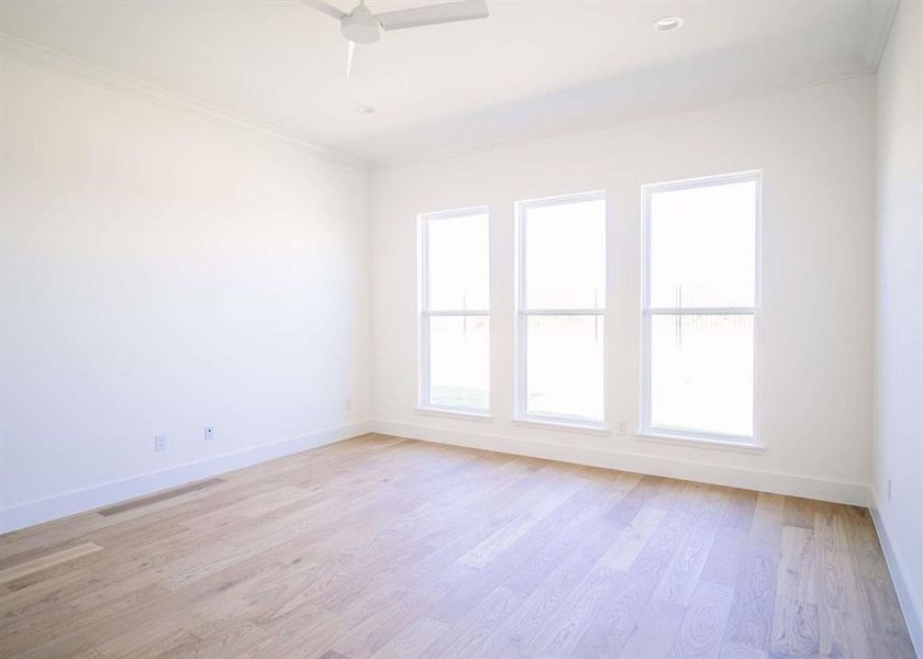
[[[365,436],[0,537],[3,657],[913,657],[868,512]]]

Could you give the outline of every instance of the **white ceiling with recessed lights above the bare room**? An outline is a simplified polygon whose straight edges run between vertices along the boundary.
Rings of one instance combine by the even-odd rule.
[[[367,2],[372,12],[435,3]],[[868,72],[894,4],[488,0],[486,20],[385,33],[348,80],[340,26],[297,0],[4,0],[0,32],[301,141],[393,160]],[[686,25],[655,33],[668,14]]]

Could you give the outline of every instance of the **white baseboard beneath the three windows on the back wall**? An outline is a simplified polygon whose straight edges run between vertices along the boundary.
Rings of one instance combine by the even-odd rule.
[[[742,467],[718,466],[620,450],[587,448],[482,432],[452,431],[403,422],[372,421],[370,422],[370,429],[376,433],[396,435],[409,439],[467,446],[533,458],[589,465],[591,467],[621,469],[623,471],[694,480],[716,485],[774,492],[776,494],[791,494],[793,496],[804,496],[807,499],[819,499],[822,501],[861,506],[867,506],[870,503],[869,488],[865,483],[826,480]]]

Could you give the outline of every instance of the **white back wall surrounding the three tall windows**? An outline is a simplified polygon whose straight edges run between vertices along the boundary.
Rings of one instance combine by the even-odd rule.
[[[374,178],[377,427],[559,459],[866,503],[871,477],[871,77],[565,138],[393,166]],[[764,172],[758,364],[764,454],[511,423],[513,203],[604,189],[609,208],[607,417],[637,424],[643,183]],[[418,213],[491,206],[490,422],[416,404]]]

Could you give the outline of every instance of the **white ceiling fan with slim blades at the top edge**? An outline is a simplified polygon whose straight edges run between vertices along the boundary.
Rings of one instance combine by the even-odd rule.
[[[365,0],[346,13],[324,2],[324,0],[302,0],[321,13],[340,21],[340,31],[349,42],[346,57],[346,77],[355,69],[357,62],[366,56],[366,47],[381,38],[381,31],[404,30],[407,27],[422,27],[455,21],[486,19],[490,15],[485,0],[457,0],[443,4],[431,4],[413,9],[399,9],[374,14],[365,5]]]

